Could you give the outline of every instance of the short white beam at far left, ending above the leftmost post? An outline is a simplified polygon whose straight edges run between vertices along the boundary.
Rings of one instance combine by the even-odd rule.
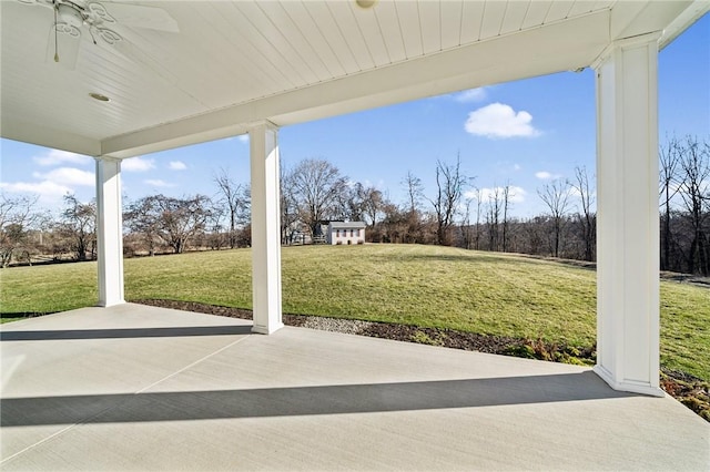
[[[88,156],[101,155],[101,143],[98,140],[4,117],[0,123],[0,135],[8,140]]]

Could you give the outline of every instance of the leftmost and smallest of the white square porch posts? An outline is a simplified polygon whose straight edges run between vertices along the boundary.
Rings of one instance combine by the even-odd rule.
[[[125,302],[120,160],[97,157],[97,211],[99,306],[110,307]]]

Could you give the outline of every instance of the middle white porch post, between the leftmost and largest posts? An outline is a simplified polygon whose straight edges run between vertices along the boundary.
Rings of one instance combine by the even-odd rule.
[[[254,327],[270,335],[281,320],[278,129],[262,122],[248,131],[252,168],[252,286]]]

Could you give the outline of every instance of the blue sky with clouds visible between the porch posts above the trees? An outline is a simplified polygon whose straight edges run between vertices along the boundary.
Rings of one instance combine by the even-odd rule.
[[[710,137],[710,16],[703,17],[659,55],[659,138]],[[352,181],[376,185],[395,203],[410,171],[425,194],[435,191],[436,161],[454,163],[484,193],[514,187],[515,216],[544,212],[537,195],[552,178],[574,177],[575,166],[595,173],[594,71],[566,72],[424,99],[286,126],[280,131],[282,165],[323,158]],[[49,209],[67,192],[94,196],[93,160],[9,140],[0,141],[0,189],[36,193]],[[248,182],[245,136],[204,143],[123,162],[129,202],[163,193],[212,196],[213,176],[227,168]]]

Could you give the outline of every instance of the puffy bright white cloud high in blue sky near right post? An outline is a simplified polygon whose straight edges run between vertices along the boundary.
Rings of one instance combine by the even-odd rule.
[[[516,113],[510,105],[491,103],[468,114],[464,127],[470,134],[486,137],[537,136],[540,134],[530,122],[528,112]]]

